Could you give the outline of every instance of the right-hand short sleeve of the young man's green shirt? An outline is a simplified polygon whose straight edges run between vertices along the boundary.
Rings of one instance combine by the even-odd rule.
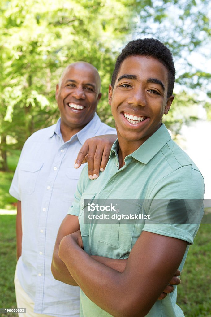
[[[171,236],[193,244],[203,217],[204,180],[191,166],[182,166],[162,178],[144,201],[150,215],[144,231]]]

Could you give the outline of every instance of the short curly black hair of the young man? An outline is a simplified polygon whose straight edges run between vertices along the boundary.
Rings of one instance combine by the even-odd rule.
[[[114,87],[121,63],[128,56],[141,55],[151,56],[159,60],[168,70],[168,91],[167,97],[173,94],[175,82],[175,67],[173,56],[169,49],[160,41],[153,38],[137,39],[129,42],[118,56],[112,75],[111,85]]]

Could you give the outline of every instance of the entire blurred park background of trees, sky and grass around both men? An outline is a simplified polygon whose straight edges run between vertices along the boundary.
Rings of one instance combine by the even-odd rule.
[[[33,132],[59,118],[55,87],[62,70],[74,61],[87,61],[99,70],[102,99],[97,113],[102,121],[114,126],[107,93],[115,59],[127,42],[144,37],[159,39],[173,53],[175,100],[163,121],[172,138],[200,168],[205,178],[205,199],[211,199],[209,0],[1,0],[0,213],[15,213],[16,201],[8,190],[23,143]],[[211,207],[209,202],[207,207]],[[6,218],[1,219],[5,230],[0,233],[2,242],[6,234],[11,240],[4,244],[5,252],[8,254],[11,246],[14,253],[15,229],[11,221],[15,220],[11,218],[6,224]],[[206,234],[201,239],[204,244]],[[0,264],[6,269],[8,262],[7,257]],[[210,262],[206,265],[211,268]],[[203,268],[200,269],[202,272]],[[210,280],[210,274],[204,275],[205,280]],[[191,282],[187,281],[190,288]],[[4,284],[5,279],[1,282],[0,277],[0,286]],[[10,284],[9,289],[13,287]],[[184,290],[183,297],[186,294]],[[192,302],[188,303],[191,307]],[[197,306],[203,307],[203,314],[200,308],[194,308],[188,316],[211,316],[210,303],[209,297]]]

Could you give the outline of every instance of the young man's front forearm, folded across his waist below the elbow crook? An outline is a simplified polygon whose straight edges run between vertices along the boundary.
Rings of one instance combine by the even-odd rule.
[[[96,261],[76,243],[71,243],[70,248],[70,244],[65,242],[66,238],[60,243],[59,256],[74,280],[91,301],[113,316],[121,316],[120,309],[124,307],[123,295],[125,293],[121,286],[124,280],[120,278],[122,273]],[[68,248],[66,248],[67,245]],[[62,249],[63,251],[61,251]],[[99,260],[101,257],[96,258]],[[107,262],[108,258],[105,259]],[[101,258],[101,261],[104,260]],[[108,262],[111,264],[112,261]]]

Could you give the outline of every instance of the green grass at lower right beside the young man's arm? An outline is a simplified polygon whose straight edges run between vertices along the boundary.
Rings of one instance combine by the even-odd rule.
[[[211,224],[201,224],[190,247],[177,302],[187,317],[211,317]]]

